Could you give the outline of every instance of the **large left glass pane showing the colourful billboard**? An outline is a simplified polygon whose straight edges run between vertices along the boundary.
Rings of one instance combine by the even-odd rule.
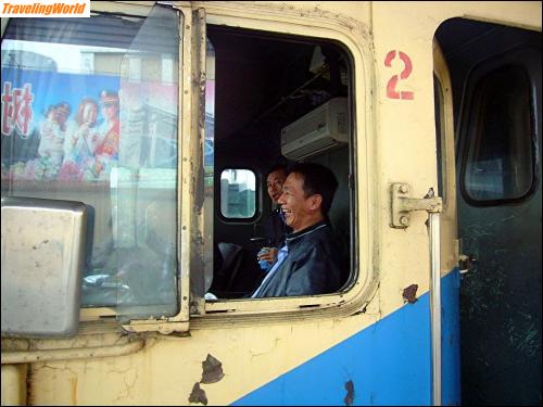
[[[2,40],[2,196],[88,205],[84,307],[177,313],[178,21],[12,18]]]

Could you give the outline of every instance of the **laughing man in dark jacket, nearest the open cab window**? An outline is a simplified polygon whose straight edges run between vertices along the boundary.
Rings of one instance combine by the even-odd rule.
[[[332,171],[319,164],[292,167],[278,203],[293,231],[252,298],[326,294],[341,288],[339,251],[327,221],[337,188]]]

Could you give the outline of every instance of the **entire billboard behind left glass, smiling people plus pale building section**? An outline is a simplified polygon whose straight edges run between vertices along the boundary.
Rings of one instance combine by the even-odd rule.
[[[173,84],[12,67],[1,84],[2,180],[99,181],[117,165],[177,167]]]

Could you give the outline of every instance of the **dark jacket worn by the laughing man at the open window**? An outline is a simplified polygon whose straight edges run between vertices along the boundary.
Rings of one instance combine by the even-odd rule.
[[[339,250],[324,221],[286,238],[289,252],[255,297],[316,295],[343,284]]]

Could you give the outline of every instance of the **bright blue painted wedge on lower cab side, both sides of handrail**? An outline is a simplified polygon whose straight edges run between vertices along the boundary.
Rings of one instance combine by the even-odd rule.
[[[450,384],[458,372],[458,317],[456,287],[458,274],[442,280],[443,338],[456,345],[444,346],[443,400],[459,402],[459,385]],[[455,311],[451,311],[451,306]],[[307,339],[311,341],[311,339]],[[325,353],[233,403],[254,405],[344,405],[345,383],[353,382],[353,405],[430,405],[429,294],[407,304],[379,322],[354,334]],[[277,356],[278,358],[281,355]],[[455,361],[456,360],[456,361]],[[456,379],[458,381],[459,379]]]

